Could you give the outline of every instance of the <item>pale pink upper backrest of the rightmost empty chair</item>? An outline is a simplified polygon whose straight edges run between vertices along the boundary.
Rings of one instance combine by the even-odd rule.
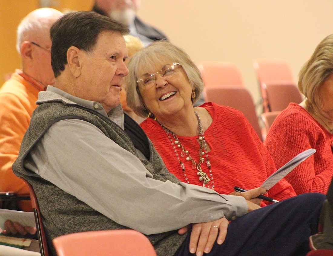
[[[259,81],[263,112],[273,111],[271,109],[272,102],[268,99],[266,86],[278,82],[295,85],[291,68],[283,59],[256,59],[253,61],[253,67]]]

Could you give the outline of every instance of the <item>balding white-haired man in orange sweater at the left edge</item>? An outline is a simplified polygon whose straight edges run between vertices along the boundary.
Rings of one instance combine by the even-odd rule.
[[[30,12],[17,28],[16,49],[22,69],[16,69],[0,89],[0,191],[29,193],[25,183],[14,175],[12,164],[37,107],[38,92],[54,84],[50,27],[60,16],[60,11],[40,8]],[[32,209],[30,201],[19,202],[19,207]]]

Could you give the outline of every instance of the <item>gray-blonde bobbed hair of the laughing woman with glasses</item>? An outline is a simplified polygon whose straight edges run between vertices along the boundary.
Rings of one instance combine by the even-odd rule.
[[[138,74],[144,69],[148,73],[154,73],[157,65],[165,65],[166,61],[181,64],[190,85],[192,86],[195,97],[193,103],[200,97],[203,90],[203,81],[197,66],[191,61],[189,56],[180,48],[167,41],[159,41],[140,50],[132,56],[128,69],[130,74],[125,76],[127,84],[127,104],[134,112],[141,116],[147,117],[150,110],[144,105],[139,89],[137,87]]]

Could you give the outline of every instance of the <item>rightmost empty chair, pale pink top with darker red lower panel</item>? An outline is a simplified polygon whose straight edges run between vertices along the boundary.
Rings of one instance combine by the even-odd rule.
[[[281,111],[290,102],[303,99],[289,64],[282,59],[256,59],[253,61],[262,97],[263,112]]]

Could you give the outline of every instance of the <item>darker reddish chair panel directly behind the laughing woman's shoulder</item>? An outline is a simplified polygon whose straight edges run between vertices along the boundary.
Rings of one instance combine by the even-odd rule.
[[[249,91],[240,86],[211,86],[206,88],[207,99],[241,111],[250,122],[260,140],[263,140],[255,105]]]

